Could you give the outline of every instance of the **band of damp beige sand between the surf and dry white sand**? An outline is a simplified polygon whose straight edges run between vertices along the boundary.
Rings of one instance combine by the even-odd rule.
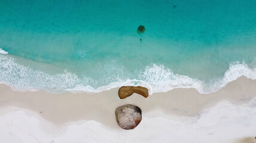
[[[17,92],[7,85],[0,85],[0,109],[2,110],[0,117],[17,110],[4,110],[5,108],[18,107],[37,113],[36,116],[63,130],[66,124],[77,125],[77,123],[95,121],[103,128],[126,132],[121,130],[115,121],[115,108],[124,104],[133,104],[141,108],[142,122],[160,118],[169,122],[193,125],[198,122],[205,110],[211,111],[211,108],[223,102],[228,101],[237,108],[249,104],[256,97],[255,87],[256,80],[239,77],[219,91],[210,94],[200,94],[196,89],[173,89],[150,95],[148,98],[133,94],[120,100],[118,88],[97,94],[50,94],[45,91]],[[256,112],[256,109],[252,108],[252,111]],[[33,115],[33,117],[36,116]],[[139,126],[137,127],[139,129],[145,128],[144,125]],[[171,128],[170,125],[167,126]]]

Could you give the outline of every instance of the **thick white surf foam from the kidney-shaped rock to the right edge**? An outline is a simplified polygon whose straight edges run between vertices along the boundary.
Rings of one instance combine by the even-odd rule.
[[[145,71],[141,72],[142,80],[151,86],[150,89],[153,89],[153,92],[167,92],[175,88],[195,88],[201,94],[218,91],[227,83],[241,76],[245,76],[248,79],[256,79],[256,67],[250,68],[247,64],[240,62],[230,63],[229,69],[225,71],[224,76],[212,79],[210,83],[175,74],[163,65],[151,64],[151,66],[145,68]]]

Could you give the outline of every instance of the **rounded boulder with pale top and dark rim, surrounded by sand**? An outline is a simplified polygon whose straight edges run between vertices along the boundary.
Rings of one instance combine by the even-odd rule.
[[[141,122],[141,108],[136,105],[123,105],[115,110],[115,119],[122,129],[134,129]]]

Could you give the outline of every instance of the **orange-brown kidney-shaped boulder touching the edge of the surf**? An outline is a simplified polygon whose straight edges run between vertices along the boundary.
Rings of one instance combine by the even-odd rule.
[[[120,99],[124,99],[126,97],[130,97],[133,93],[140,94],[143,97],[148,97],[148,89],[142,86],[121,86],[118,90],[118,96]]]

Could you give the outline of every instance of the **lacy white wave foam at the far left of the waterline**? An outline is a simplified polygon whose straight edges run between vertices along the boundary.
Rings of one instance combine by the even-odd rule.
[[[70,88],[78,83],[77,75],[64,73],[50,74],[35,71],[29,67],[17,64],[15,59],[0,55],[0,83],[9,85],[18,91],[56,91]]]

